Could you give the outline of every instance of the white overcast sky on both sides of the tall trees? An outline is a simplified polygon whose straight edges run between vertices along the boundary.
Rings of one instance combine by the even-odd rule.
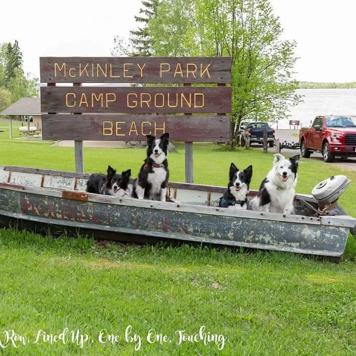
[[[271,0],[298,43],[299,81],[356,81],[354,0]],[[115,35],[135,28],[141,0],[1,1],[0,43],[19,41],[25,72],[39,77],[41,56],[110,56]]]

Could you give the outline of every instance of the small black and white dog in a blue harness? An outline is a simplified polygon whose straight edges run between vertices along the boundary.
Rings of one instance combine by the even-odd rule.
[[[219,199],[218,207],[246,210],[251,178],[252,166],[249,166],[243,171],[239,171],[239,169],[231,163],[228,188]]]

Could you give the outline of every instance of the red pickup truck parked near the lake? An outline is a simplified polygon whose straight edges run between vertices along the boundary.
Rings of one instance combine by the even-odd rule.
[[[335,157],[356,157],[356,116],[317,116],[310,128],[299,131],[302,157],[321,152],[325,162]]]

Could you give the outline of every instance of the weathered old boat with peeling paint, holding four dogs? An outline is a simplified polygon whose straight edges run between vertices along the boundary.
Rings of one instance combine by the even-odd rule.
[[[356,223],[337,202],[333,211],[339,215],[317,214],[312,195],[297,194],[296,214],[286,216],[216,208],[224,187],[170,182],[170,202],[157,202],[86,193],[87,178],[82,173],[0,167],[0,225],[36,232],[81,231],[117,241],[173,239],[341,257]],[[251,197],[255,194],[251,191]]]

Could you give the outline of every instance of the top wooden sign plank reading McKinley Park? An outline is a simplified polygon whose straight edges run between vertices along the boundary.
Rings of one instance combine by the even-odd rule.
[[[231,83],[231,57],[41,57],[41,83]]]

